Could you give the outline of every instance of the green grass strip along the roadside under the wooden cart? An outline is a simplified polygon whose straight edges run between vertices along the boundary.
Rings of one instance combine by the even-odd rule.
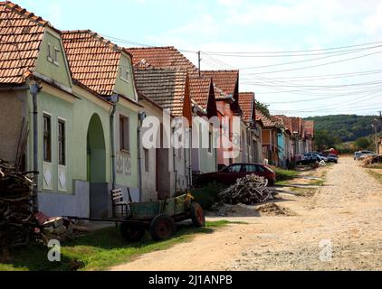
[[[118,228],[105,228],[65,243],[62,246],[61,262],[49,262],[48,248],[31,245],[14,250],[12,263],[0,264],[0,271],[104,270],[110,266],[127,263],[139,255],[191,241],[195,234],[211,234],[215,228],[228,224],[228,221],[207,222],[205,228],[183,225],[178,228],[174,238],[153,242],[147,235],[142,242],[135,244],[129,244],[121,238]]]

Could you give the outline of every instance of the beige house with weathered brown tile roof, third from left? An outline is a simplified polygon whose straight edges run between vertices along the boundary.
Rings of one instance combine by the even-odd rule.
[[[163,123],[164,113],[171,121],[174,117],[186,117],[187,132],[190,134],[192,106],[189,78],[186,70],[158,68],[136,68],[134,75],[139,94],[146,98],[140,101],[146,114],[161,120],[157,148],[143,146],[143,189],[148,191],[146,195],[151,196],[150,199],[164,200],[192,185],[191,149],[189,145],[175,148],[172,144],[165,144],[172,137],[174,128]],[[158,196],[155,196],[156,192]]]

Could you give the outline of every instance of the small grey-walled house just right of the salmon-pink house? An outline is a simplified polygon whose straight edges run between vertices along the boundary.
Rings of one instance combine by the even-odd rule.
[[[238,162],[263,163],[262,157],[262,130],[261,122],[256,121],[256,105],[253,92],[241,92],[239,104],[243,111],[241,155]]]

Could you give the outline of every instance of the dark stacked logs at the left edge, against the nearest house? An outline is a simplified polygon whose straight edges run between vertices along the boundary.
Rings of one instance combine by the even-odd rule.
[[[32,212],[32,173],[0,160],[0,251],[27,245],[38,222]]]

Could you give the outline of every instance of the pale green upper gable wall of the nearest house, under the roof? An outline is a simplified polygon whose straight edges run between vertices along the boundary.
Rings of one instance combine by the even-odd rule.
[[[48,61],[48,43],[51,44],[52,55],[54,47],[59,50],[58,64]],[[45,28],[45,34],[43,36],[43,42],[40,46],[35,71],[49,77],[50,79],[54,79],[54,81],[59,82],[67,88],[72,88],[72,79],[64,57],[62,41],[60,38],[54,36],[53,32],[50,33],[49,28]]]

